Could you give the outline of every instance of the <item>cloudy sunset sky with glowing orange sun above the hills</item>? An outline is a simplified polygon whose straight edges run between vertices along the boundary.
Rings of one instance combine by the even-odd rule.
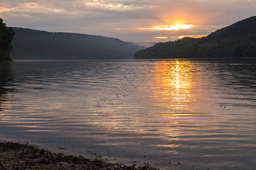
[[[206,36],[256,15],[256,0],[0,0],[9,27],[166,42]]]

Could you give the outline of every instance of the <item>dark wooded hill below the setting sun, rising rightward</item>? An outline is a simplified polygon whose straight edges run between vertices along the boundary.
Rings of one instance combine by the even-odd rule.
[[[159,42],[139,50],[134,58],[151,52],[157,58],[256,57],[256,16],[210,33],[206,37]]]

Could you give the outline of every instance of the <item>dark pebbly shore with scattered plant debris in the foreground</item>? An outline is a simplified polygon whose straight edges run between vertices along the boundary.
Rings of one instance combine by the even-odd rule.
[[[85,159],[82,156],[55,154],[28,144],[0,143],[0,169],[150,169],[144,166],[126,166],[122,163],[106,163],[102,160]]]

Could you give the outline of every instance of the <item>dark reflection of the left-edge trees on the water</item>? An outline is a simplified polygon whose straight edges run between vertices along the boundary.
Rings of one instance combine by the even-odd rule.
[[[11,63],[0,63],[0,111],[6,101],[7,92],[13,91],[13,70]]]

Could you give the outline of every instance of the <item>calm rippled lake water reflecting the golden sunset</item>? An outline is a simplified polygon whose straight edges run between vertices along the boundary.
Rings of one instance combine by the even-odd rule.
[[[162,169],[256,169],[255,63],[0,63],[0,140]]]

